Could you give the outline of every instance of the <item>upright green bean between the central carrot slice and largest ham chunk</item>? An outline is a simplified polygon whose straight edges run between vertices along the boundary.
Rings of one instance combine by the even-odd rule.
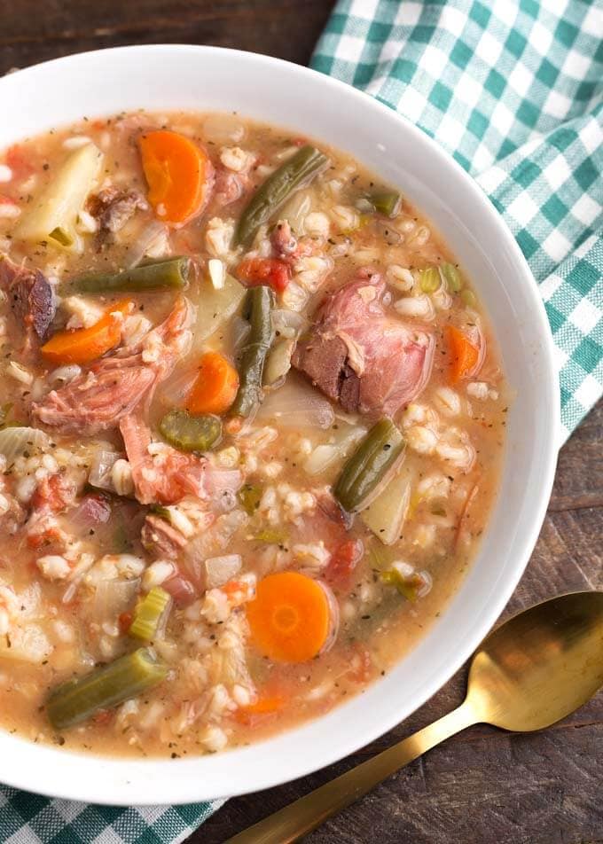
[[[231,407],[231,416],[250,416],[262,403],[262,377],[266,355],[274,337],[270,316],[274,294],[264,285],[247,291],[243,317],[251,331],[242,349],[239,364],[239,392]]]

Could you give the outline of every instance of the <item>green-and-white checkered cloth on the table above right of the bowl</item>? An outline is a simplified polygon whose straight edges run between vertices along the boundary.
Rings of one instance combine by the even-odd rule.
[[[540,286],[565,440],[603,391],[601,0],[340,0],[311,62],[450,152]]]

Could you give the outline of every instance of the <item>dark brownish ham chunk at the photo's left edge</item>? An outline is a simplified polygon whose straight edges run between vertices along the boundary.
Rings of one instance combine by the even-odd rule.
[[[43,343],[55,314],[52,287],[40,270],[28,270],[0,257],[0,289],[26,332],[26,349]]]

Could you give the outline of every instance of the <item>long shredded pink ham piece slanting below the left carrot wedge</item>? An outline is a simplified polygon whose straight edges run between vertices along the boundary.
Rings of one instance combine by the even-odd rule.
[[[183,299],[164,323],[137,347],[121,348],[92,363],[59,390],[51,390],[34,405],[35,421],[61,434],[98,434],[146,400],[172,371],[190,340],[191,309]]]

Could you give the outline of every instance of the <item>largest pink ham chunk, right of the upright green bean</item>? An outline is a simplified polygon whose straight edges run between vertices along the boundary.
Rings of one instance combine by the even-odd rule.
[[[386,315],[378,273],[328,295],[293,365],[348,412],[394,416],[419,395],[431,374],[435,339],[426,329]]]

